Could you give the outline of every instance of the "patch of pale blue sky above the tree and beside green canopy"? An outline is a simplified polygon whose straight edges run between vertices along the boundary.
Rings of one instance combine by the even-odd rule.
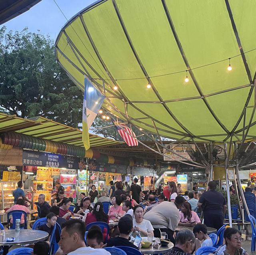
[[[80,10],[96,0],[55,0],[66,18],[69,20]],[[67,22],[54,0],[42,0],[27,12],[2,24],[7,31],[21,31],[28,27],[29,32],[38,33],[38,30],[51,39],[56,39],[61,28]]]

